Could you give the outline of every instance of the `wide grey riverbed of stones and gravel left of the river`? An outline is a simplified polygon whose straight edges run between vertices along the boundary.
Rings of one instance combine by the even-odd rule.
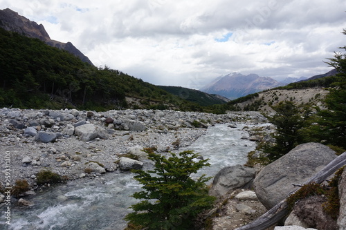
[[[35,194],[51,186],[37,185],[36,176],[42,170],[82,183],[94,179],[102,182],[104,173],[122,173],[141,166],[145,161],[145,154],[141,151],[143,148],[152,148],[158,153],[179,151],[206,135],[209,126],[219,124],[228,124],[230,129],[242,127],[242,139],[254,142],[263,136],[258,136],[255,128],[252,130],[249,127],[264,122],[265,118],[255,112],[215,115],[178,111],[125,110],[96,113],[75,109],[53,111],[2,108],[0,151],[3,159],[0,167],[1,171],[6,169],[5,156],[10,155],[11,185],[17,180],[26,180],[31,189],[28,194]],[[129,153],[136,155],[139,161],[129,160]],[[1,177],[1,185],[8,186],[5,175]],[[249,206],[254,202],[250,201]],[[259,205],[257,202],[255,204]],[[239,217],[235,226],[248,221],[247,212],[244,211],[244,218]],[[239,215],[243,215],[241,213]]]

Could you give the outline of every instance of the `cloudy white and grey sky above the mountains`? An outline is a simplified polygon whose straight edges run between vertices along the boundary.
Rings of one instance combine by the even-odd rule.
[[[201,88],[229,73],[311,77],[345,46],[345,0],[0,0],[95,66]]]

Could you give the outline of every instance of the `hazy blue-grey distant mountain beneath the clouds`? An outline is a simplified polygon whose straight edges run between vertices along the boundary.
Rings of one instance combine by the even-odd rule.
[[[240,73],[230,73],[218,77],[200,90],[210,94],[222,95],[229,99],[236,99],[281,85],[280,82],[277,82],[271,77],[260,77],[255,74],[242,75]]]

